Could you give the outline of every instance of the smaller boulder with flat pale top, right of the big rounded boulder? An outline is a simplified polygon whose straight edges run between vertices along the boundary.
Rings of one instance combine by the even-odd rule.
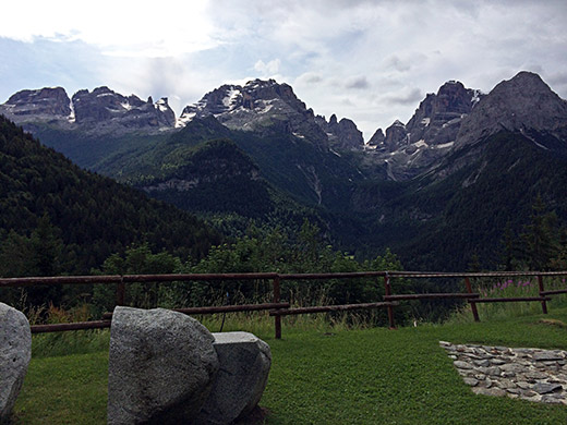
[[[213,333],[220,369],[195,424],[230,424],[251,413],[266,388],[272,352],[249,332]]]

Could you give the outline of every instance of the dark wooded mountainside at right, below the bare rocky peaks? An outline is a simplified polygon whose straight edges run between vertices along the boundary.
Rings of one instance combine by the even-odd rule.
[[[462,270],[474,255],[484,267],[495,268],[505,228],[509,224],[519,235],[538,196],[559,224],[567,223],[567,155],[538,146],[544,138],[500,132],[482,141],[482,148],[471,145],[454,153],[446,167],[475,151],[442,180],[430,174],[390,183],[394,192],[374,183],[364,204],[374,209],[359,212],[365,233],[357,239],[375,248],[391,247],[407,268]]]

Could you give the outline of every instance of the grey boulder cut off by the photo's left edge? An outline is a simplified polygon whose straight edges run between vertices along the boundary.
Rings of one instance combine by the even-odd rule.
[[[0,303],[0,423],[8,421],[32,357],[32,331],[23,313]]]

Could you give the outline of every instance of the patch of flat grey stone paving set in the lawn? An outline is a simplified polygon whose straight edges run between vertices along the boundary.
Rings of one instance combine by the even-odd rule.
[[[567,351],[439,341],[478,394],[567,404]]]

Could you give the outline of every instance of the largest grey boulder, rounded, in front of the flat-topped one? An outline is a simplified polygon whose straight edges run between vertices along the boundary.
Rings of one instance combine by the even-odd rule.
[[[191,423],[218,371],[214,340],[203,325],[181,313],[116,307],[108,424]]]

